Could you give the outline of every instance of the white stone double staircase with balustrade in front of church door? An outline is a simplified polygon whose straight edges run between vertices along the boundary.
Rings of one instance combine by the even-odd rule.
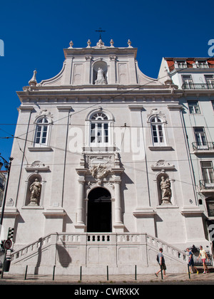
[[[148,234],[131,233],[54,233],[39,238],[11,253],[10,273],[51,274],[53,268],[61,275],[153,273],[158,270],[156,256],[163,248],[170,273],[187,271],[187,254]]]

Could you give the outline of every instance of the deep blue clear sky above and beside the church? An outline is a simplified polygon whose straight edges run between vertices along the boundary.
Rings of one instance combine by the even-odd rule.
[[[1,1],[0,39],[0,152],[11,155],[19,98],[16,91],[28,85],[37,70],[37,81],[54,77],[63,65],[63,48],[96,46],[98,28],[103,42],[126,47],[128,38],[138,48],[143,73],[157,78],[162,57],[208,57],[214,38],[214,1],[142,0],[38,0]]]

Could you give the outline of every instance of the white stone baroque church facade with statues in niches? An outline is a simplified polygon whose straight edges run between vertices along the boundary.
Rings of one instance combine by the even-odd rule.
[[[58,75],[17,94],[5,226],[11,271],[186,271],[185,248],[203,245],[203,211],[182,122],[183,95],[165,73],[149,78],[137,48],[98,41],[64,49]],[[176,266],[175,266],[176,265]],[[177,269],[177,270],[176,270]],[[170,271],[169,270],[169,271]]]

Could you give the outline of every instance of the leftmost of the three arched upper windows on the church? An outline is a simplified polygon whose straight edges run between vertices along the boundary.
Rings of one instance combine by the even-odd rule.
[[[39,118],[36,121],[36,132],[34,137],[35,147],[48,145],[50,122],[46,117]]]

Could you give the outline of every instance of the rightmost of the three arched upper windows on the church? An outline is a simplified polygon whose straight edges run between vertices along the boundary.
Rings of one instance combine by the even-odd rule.
[[[165,132],[163,122],[157,115],[151,118],[151,132],[153,145],[165,145]]]

